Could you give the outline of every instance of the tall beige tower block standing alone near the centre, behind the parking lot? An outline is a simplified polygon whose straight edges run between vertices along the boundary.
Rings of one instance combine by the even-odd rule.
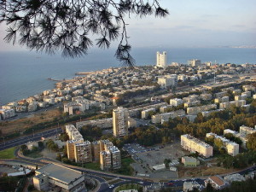
[[[128,135],[128,110],[123,107],[113,109],[113,136]]]

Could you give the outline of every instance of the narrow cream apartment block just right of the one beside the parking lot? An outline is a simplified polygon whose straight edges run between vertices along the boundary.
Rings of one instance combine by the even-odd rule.
[[[220,137],[215,133],[207,133],[207,137],[214,137],[214,139],[220,139],[224,143],[224,148],[227,150],[227,153],[236,156],[239,154],[239,144],[231,142],[229,139],[225,137]]]

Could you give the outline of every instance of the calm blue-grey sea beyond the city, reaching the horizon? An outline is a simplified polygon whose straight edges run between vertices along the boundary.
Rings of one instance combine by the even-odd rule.
[[[167,63],[186,64],[190,59],[202,62],[256,64],[256,49],[246,48],[133,48],[137,66],[154,65],[156,51],[166,51]],[[121,67],[115,49],[90,49],[79,58],[63,58],[33,51],[0,52],[0,106],[53,89],[52,79],[73,79],[75,73]]]

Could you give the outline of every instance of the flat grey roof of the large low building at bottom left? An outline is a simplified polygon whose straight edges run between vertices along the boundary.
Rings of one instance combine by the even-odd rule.
[[[75,171],[65,166],[59,166],[56,164],[47,164],[41,169],[36,170],[36,172],[46,173],[49,177],[53,177],[67,184],[82,176],[82,173],[79,171]]]

